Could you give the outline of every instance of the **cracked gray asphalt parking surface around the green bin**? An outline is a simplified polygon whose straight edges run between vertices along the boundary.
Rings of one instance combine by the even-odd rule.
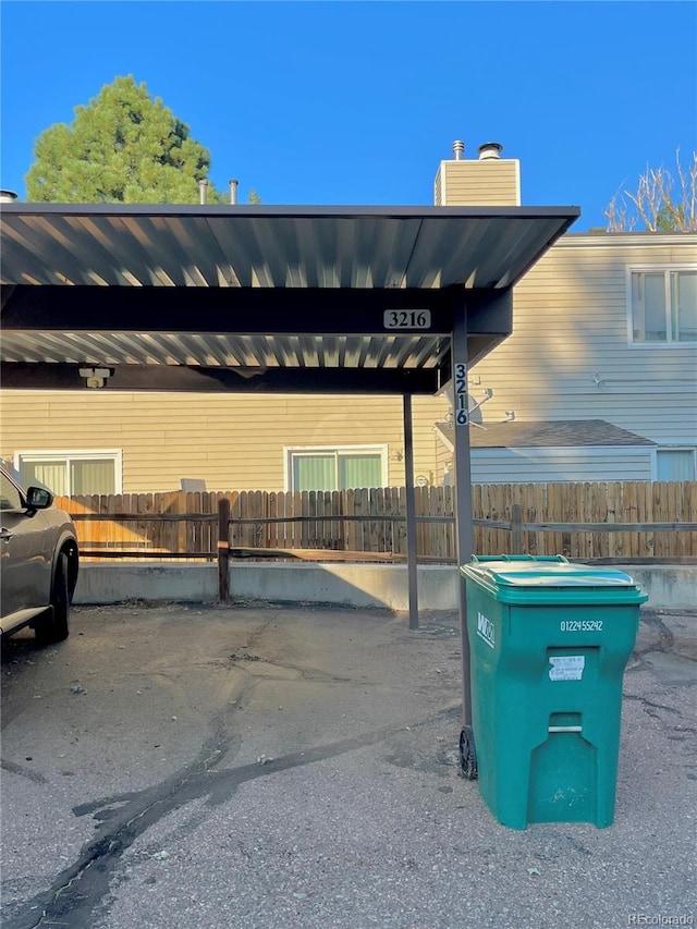
[[[694,925],[697,613],[643,614],[615,822],[458,777],[454,614],[131,603],[2,653],[2,926]]]

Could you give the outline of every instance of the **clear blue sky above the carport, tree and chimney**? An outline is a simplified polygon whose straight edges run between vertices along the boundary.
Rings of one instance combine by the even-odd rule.
[[[37,136],[133,74],[265,204],[432,204],[439,161],[496,140],[525,205],[604,224],[647,163],[697,148],[693,2],[3,0],[0,184]]]

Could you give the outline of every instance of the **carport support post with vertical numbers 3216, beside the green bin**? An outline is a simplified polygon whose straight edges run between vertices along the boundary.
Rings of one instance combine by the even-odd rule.
[[[452,339],[453,430],[455,432],[455,503],[457,537],[457,585],[460,590],[460,636],[462,639],[462,722],[472,725],[472,670],[467,637],[467,595],[460,565],[472,560],[472,469],[469,452],[469,405],[467,396],[467,308],[457,308]]]

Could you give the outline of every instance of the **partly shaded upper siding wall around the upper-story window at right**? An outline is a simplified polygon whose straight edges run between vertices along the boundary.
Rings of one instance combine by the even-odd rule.
[[[474,369],[474,396],[493,390],[485,421],[600,418],[697,443],[697,347],[631,345],[627,329],[628,269],[696,255],[694,235],[565,236],[516,286],[513,335]]]

